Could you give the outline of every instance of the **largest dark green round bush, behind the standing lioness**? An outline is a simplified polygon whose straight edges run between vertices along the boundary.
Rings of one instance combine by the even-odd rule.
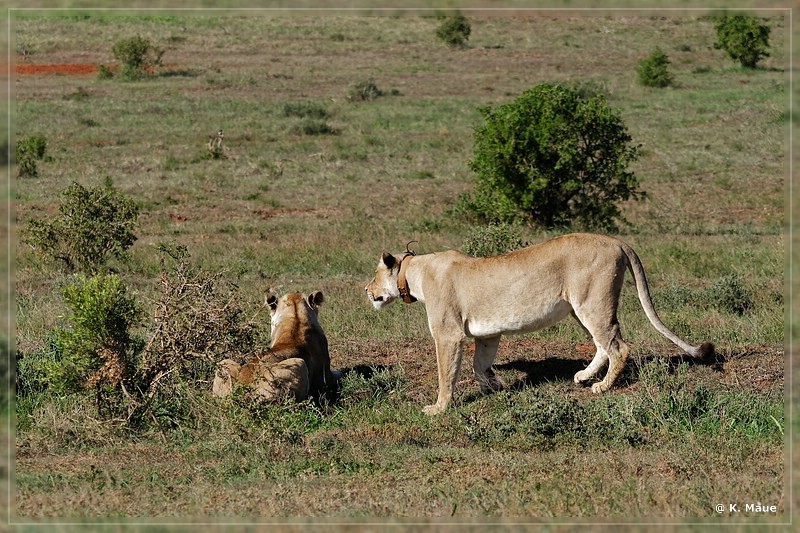
[[[540,84],[511,103],[482,107],[469,167],[477,181],[456,212],[494,222],[612,230],[617,202],[643,196],[627,170],[638,154],[605,97]]]

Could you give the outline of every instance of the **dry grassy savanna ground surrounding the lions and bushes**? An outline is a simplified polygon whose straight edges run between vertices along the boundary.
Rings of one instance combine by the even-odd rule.
[[[194,391],[201,416],[144,434],[94,419],[84,398],[42,401],[17,428],[15,520],[786,521],[787,20],[768,18],[771,55],[754,71],[715,50],[696,14],[495,13],[472,19],[464,50],[437,42],[438,23],[13,20],[20,62],[111,65],[113,43],[137,34],[166,49],[165,66],[137,82],[14,78],[15,133],[45,135],[51,156],[39,177],[13,184],[20,229],[54,214],[71,181],[110,176],[142,208],[131,260],[116,268],[143,302],[158,290],[157,245],[183,244],[204,269],[235,277],[253,312],[268,288],[322,290],[333,366],[350,370],[331,409],[251,411]],[[672,60],[673,88],[636,82],[655,46]],[[384,96],[349,101],[369,78]],[[454,409],[427,418],[436,370],[424,309],[377,314],[363,286],[382,250],[463,245],[476,224],[449,209],[472,185],[476,108],[543,81],[600,88],[620,110],[642,145],[633,170],[648,194],[625,206],[621,237],[643,259],[662,319],[716,342],[726,362],[681,364],[628,281],[620,319],[633,357],[610,393],[572,383],[591,353],[565,322],[501,346],[506,392],[479,396],[467,357]],[[324,108],[334,133],[305,133],[285,112],[298,103]],[[220,128],[228,157],[205,159]],[[548,236],[525,229],[530,242]],[[64,315],[67,277],[23,241],[16,253],[24,355]],[[717,305],[719,280],[733,276],[752,296],[741,315]],[[778,511],[714,510],[756,502]]]

